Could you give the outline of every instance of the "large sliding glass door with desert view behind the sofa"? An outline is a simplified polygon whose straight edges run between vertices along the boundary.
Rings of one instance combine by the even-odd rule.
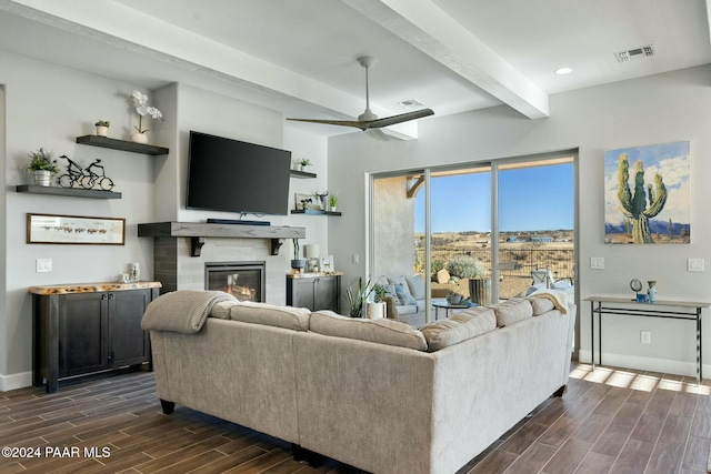
[[[373,175],[370,276],[419,275],[424,322],[452,293],[489,304],[572,292],[573,182],[573,155]]]

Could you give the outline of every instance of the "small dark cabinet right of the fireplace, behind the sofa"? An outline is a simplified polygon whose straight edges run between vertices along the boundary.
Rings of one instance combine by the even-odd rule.
[[[341,275],[287,275],[287,304],[341,312]]]

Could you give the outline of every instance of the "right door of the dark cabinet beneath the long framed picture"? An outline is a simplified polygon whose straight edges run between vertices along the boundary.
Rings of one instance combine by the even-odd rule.
[[[109,293],[109,367],[148,361],[149,336],[141,329],[141,319],[150,302],[150,290]]]

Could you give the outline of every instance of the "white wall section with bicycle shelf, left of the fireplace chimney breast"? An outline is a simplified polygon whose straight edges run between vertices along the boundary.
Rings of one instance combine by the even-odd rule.
[[[151,242],[137,236],[137,224],[152,220],[151,157],[80,145],[76,138],[94,133],[94,121],[110,120],[109,135],[127,138],[134,113],[131,84],[73,71],[0,51],[0,84],[6,91],[6,226],[7,282],[0,315],[4,335],[0,390],[29,385],[32,361],[32,285],[114,281],[129,262],[148,274]],[[100,158],[120,200],[78,199],[17,193],[30,183],[27,153],[43,147],[81,165]],[[60,168],[64,167],[60,163]],[[126,218],[126,245],[54,245],[26,243],[26,214],[49,213]],[[52,259],[51,273],[36,273],[36,259]]]

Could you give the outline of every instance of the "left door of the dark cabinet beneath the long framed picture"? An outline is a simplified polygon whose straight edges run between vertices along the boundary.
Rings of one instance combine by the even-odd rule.
[[[77,293],[60,297],[60,377],[107,369],[107,293]]]

